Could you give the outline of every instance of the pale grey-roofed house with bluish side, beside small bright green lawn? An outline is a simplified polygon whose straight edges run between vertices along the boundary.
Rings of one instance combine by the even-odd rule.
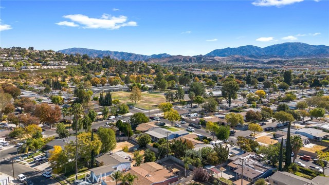
[[[154,128],[152,131],[145,132],[148,135],[151,136],[152,141],[157,142],[161,138],[166,138],[168,137],[168,140],[177,138],[179,136],[185,136],[188,135],[189,133],[187,131],[169,131],[166,128]]]

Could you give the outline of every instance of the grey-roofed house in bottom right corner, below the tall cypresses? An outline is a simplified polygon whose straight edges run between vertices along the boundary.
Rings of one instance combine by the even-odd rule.
[[[277,185],[300,185],[300,184],[326,185],[329,183],[329,178],[317,176],[312,180],[309,180],[304,177],[300,177],[288,172],[276,172],[275,174],[269,177],[269,183],[277,184]]]

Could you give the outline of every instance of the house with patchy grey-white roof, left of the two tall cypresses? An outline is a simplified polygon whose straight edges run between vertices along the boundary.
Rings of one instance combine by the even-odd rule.
[[[243,179],[249,182],[255,182],[260,178],[267,178],[277,169],[262,162],[262,157],[255,153],[245,153],[236,157],[228,164],[229,170],[235,172],[235,178],[238,179],[242,173]]]

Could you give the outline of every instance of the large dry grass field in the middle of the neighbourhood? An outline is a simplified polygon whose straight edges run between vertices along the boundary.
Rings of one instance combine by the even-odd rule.
[[[135,105],[135,102],[129,100],[129,96],[131,94],[130,92],[119,91],[111,94],[113,100],[118,99],[122,103],[131,104],[137,108],[142,108],[145,110],[149,109],[149,107],[150,109],[156,109],[160,103],[166,102],[165,96],[161,94],[149,94],[147,92],[142,92],[142,99]]]

